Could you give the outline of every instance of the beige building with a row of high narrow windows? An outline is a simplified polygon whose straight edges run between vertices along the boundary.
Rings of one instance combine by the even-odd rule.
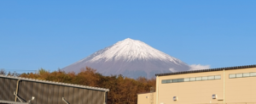
[[[137,96],[138,104],[256,104],[256,65],[156,74],[155,92]]]

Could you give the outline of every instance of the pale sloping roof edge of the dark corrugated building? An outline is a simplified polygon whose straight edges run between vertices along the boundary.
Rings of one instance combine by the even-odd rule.
[[[85,85],[73,85],[73,84],[54,82],[54,81],[48,81],[48,80],[41,80],[41,79],[28,79],[28,78],[15,77],[15,76],[6,76],[6,75],[3,75],[3,74],[0,74],[0,78],[20,79],[20,80],[26,80],[26,81],[32,81],[32,82],[38,82],[38,83],[46,83],[46,84],[52,84],[52,85],[64,85],[64,86],[78,87],[78,88],[84,88],[84,89],[90,89],[90,90],[109,91],[109,89],[99,88],[99,87],[92,87],[92,86],[85,86]]]

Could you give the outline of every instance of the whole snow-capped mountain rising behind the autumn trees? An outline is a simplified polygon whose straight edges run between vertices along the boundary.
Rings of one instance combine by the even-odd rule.
[[[189,65],[181,60],[160,52],[143,41],[130,38],[118,41],[62,70],[79,73],[85,67],[95,68],[103,75],[123,74],[130,78],[152,78],[154,74],[189,70]]]

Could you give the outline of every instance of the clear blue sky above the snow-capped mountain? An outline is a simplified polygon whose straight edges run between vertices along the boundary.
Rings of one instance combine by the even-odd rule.
[[[256,1],[0,1],[6,70],[53,71],[128,37],[188,64],[256,64]]]

